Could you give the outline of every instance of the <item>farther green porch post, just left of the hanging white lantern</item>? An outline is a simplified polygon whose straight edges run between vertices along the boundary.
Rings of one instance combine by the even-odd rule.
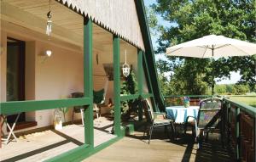
[[[114,111],[114,134],[121,135],[121,109],[120,109],[120,40],[119,36],[113,35],[113,111]]]

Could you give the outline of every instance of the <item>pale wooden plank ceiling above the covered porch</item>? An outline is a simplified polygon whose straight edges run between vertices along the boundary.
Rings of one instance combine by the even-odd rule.
[[[15,28],[20,34],[32,35],[40,41],[48,41],[45,34],[45,27],[49,11],[49,0],[3,0],[1,1],[1,20],[3,22],[3,30],[10,31]],[[83,35],[84,20],[80,14],[65,7],[61,3],[51,1],[53,32],[52,43],[62,44],[63,47],[73,48],[80,53],[83,52]],[[22,29],[20,28],[22,27]],[[112,33],[104,30],[98,25],[93,25],[93,47],[96,53],[100,53],[105,63],[112,63],[113,43]],[[24,41],[31,41],[27,39]],[[62,42],[62,43],[61,43]],[[137,47],[129,45],[125,41],[120,42],[121,54],[124,55],[125,49],[127,53],[137,53]],[[111,57],[109,57],[111,56]],[[122,62],[124,57],[120,58]],[[136,62],[137,58],[131,58],[131,62]]]

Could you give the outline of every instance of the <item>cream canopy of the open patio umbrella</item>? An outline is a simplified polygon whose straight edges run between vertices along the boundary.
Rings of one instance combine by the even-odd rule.
[[[225,36],[209,35],[168,47],[166,54],[194,58],[248,56],[256,54],[256,44]]]

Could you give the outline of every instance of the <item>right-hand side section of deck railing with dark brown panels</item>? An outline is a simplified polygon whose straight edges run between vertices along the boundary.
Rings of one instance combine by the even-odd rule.
[[[255,161],[256,108],[223,99],[224,137],[235,148],[237,161]]]

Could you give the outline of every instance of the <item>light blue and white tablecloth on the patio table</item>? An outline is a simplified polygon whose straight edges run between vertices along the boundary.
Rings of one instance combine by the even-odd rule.
[[[183,106],[171,106],[166,107],[166,114],[176,123],[183,123],[188,116],[197,117],[199,106],[189,106],[184,108]]]

